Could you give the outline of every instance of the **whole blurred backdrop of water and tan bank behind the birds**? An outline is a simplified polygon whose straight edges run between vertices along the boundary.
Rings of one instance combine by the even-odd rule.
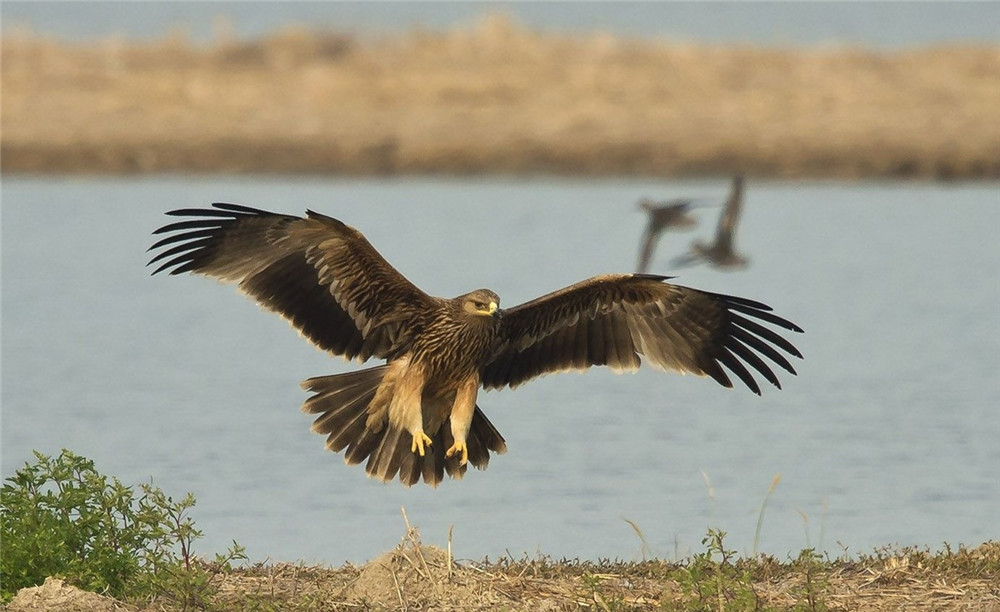
[[[201,553],[783,557],[997,539],[1000,4],[4,2],[2,474],[68,448],[192,491]],[[695,261],[745,177],[734,269]],[[150,278],[174,208],[306,208],[428,292],[505,306],[635,269],[806,333],[762,398],[642,370],[480,405],[509,452],[365,478],[298,382],[356,364],[231,287]],[[673,229],[673,228],[671,228]],[[678,228],[679,229],[679,228]],[[759,538],[761,504],[775,476]]]

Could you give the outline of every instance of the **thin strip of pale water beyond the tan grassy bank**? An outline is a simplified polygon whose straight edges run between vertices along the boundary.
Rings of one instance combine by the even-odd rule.
[[[163,36],[211,40],[217,17],[255,37],[283,25],[392,32],[468,26],[501,12],[532,29],[768,45],[900,48],[996,43],[995,2],[4,2],[5,23],[69,39]]]

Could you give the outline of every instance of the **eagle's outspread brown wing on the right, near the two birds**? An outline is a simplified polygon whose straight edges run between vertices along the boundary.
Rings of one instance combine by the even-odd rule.
[[[751,369],[781,388],[765,358],[795,374],[782,352],[802,355],[761,322],[801,332],[797,325],[759,302],[666,279],[598,276],[505,310],[497,350],[482,371],[483,387],[515,387],[590,366],[634,370],[640,356],[663,369],[711,376],[725,387],[732,387],[729,370],[758,395]]]

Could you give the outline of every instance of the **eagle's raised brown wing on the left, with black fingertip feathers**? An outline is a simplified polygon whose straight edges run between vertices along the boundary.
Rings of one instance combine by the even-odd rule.
[[[238,204],[181,209],[188,217],[166,234],[153,272],[193,272],[236,283],[335,355],[361,361],[399,352],[406,322],[435,303],[382,258],[361,232],[307,211],[305,218]],[[148,264],[147,264],[148,265]]]

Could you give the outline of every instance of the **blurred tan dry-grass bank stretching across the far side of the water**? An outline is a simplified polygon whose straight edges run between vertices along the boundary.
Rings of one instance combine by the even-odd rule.
[[[1000,46],[3,37],[4,171],[1000,177]]]

